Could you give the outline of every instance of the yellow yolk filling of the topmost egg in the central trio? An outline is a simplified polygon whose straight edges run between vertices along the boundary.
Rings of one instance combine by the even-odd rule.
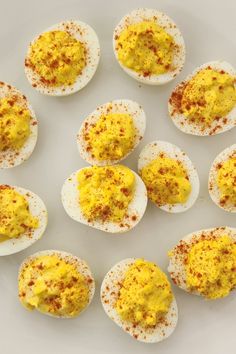
[[[102,115],[85,134],[87,151],[99,161],[119,160],[134,147],[133,118],[125,113]]]

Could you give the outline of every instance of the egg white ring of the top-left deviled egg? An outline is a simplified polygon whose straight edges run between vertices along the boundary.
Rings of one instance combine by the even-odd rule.
[[[53,87],[44,85],[40,76],[25,65],[25,74],[30,84],[40,93],[49,96],[68,96],[85,87],[94,76],[98,63],[100,60],[100,45],[95,31],[88,24],[81,21],[63,21],[51,26],[42,33],[50,31],[65,31],[68,32],[78,41],[82,42],[86,48],[86,66],[83,68],[81,74],[77,77],[75,83],[70,86]],[[41,34],[42,34],[41,33]],[[40,35],[30,43],[26,58],[29,58],[31,45],[36,42]]]

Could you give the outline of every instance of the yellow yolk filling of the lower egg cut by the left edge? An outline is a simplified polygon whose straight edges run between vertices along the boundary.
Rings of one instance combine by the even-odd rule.
[[[0,186],[0,241],[19,237],[38,226],[26,198],[9,186]]]

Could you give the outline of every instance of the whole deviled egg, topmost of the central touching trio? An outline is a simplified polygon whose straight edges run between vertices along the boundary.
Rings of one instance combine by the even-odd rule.
[[[91,165],[112,165],[125,159],[143,138],[146,116],[131,100],[107,102],[93,111],[77,134],[80,156]]]

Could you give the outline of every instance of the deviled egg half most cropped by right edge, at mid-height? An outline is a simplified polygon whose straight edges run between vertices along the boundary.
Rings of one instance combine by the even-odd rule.
[[[216,205],[236,213],[236,144],[223,150],[213,161],[208,190]]]

